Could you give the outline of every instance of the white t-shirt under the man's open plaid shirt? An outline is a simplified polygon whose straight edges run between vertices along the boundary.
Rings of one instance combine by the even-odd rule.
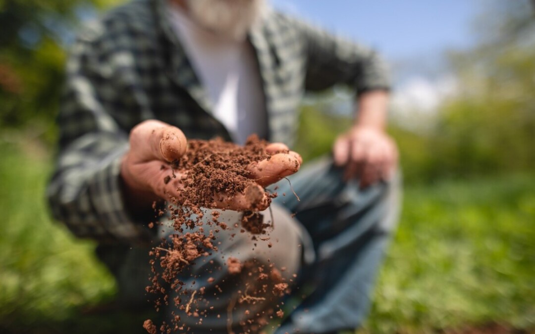
[[[208,93],[212,114],[243,144],[250,134],[268,134],[264,94],[253,46],[199,27],[179,6],[170,5],[172,26]]]

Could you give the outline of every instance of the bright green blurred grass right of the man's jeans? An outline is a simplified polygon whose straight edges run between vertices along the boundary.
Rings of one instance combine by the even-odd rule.
[[[410,187],[366,331],[535,328],[535,177]]]

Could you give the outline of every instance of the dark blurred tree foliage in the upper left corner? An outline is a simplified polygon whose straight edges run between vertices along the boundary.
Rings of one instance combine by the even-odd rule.
[[[80,15],[118,0],[0,0],[0,128],[39,127],[55,137],[65,41]]]

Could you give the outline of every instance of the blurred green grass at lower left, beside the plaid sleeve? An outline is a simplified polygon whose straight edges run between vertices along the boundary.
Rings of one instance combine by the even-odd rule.
[[[64,321],[77,307],[114,293],[111,275],[94,257],[94,244],[75,240],[50,220],[44,200],[48,151],[21,142],[0,141],[0,331]]]

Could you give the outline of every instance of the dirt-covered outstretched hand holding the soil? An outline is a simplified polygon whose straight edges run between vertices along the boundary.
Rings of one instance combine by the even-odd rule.
[[[121,162],[120,172],[128,205],[134,209],[141,209],[150,207],[152,202],[158,199],[180,198],[177,191],[181,187],[180,175],[167,183],[164,182],[164,178],[171,174],[170,163],[180,159],[187,150],[184,133],[167,123],[148,120],[132,129],[129,142],[130,149]],[[216,202],[215,207],[236,211],[251,209],[255,204],[249,200],[251,193],[265,197],[262,187],[297,172],[302,163],[301,157],[292,151],[277,153],[283,150],[288,150],[284,144],[268,145],[266,152],[273,154],[271,158],[247,166],[250,177],[256,182],[246,189],[244,194],[238,193],[230,197],[221,194],[223,196],[218,198],[225,200]],[[175,173],[179,174],[178,171]],[[267,203],[267,198],[261,198],[261,201],[262,199]],[[258,202],[258,198],[255,202]]]

